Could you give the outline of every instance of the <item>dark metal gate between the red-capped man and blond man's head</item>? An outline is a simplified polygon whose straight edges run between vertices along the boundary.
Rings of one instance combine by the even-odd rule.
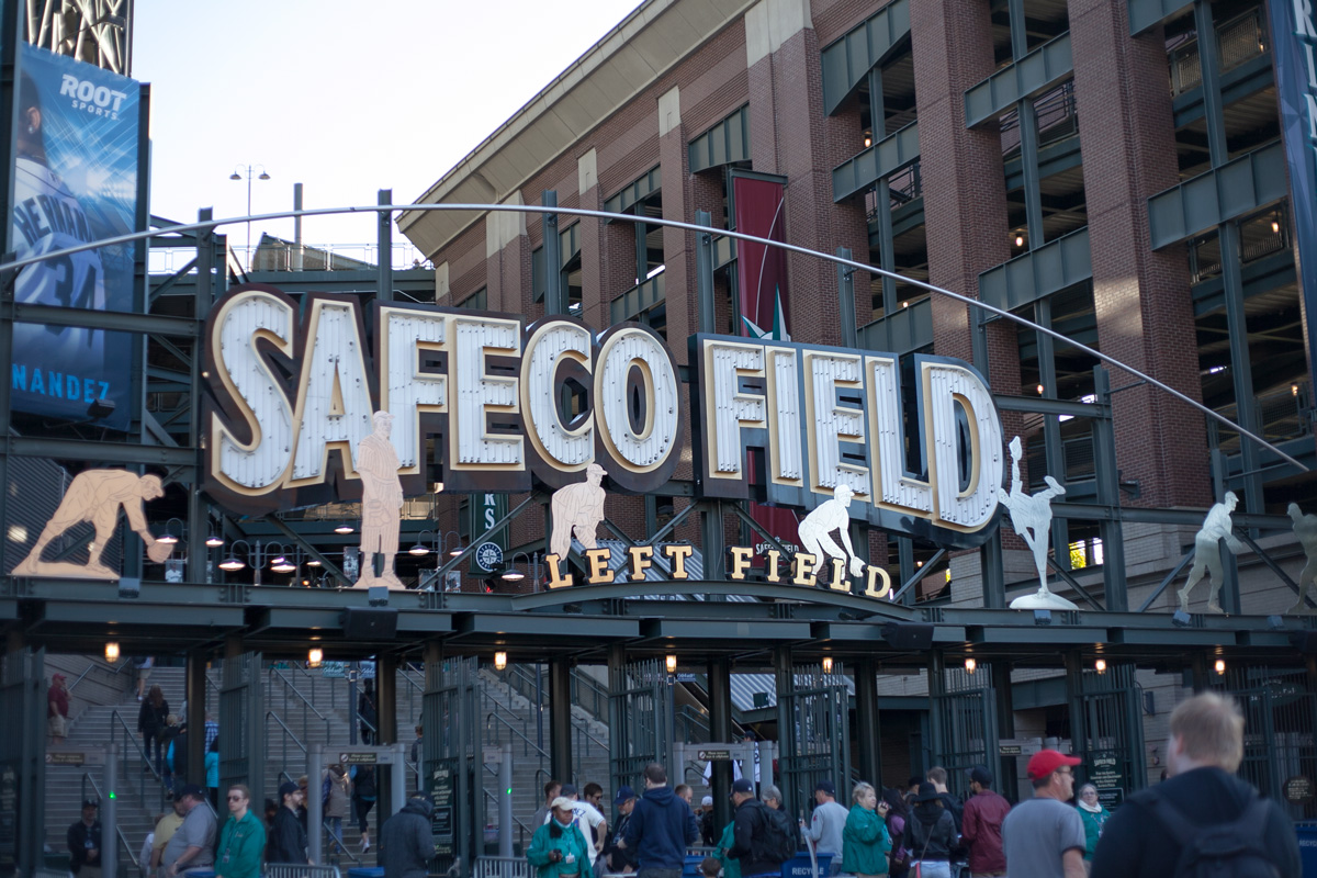
[[[1105,673],[1083,671],[1077,703],[1071,704],[1071,750],[1084,760],[1076,775],[1097,787],[1108,808],[1143,788],[1147,779],[1143,696],[1134,670],[1134,665],[1110,662]]]

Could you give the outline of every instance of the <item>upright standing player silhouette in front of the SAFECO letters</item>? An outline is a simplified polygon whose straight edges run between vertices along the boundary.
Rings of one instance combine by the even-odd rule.
[[[398,478],[398,452],[389,441],[394,416],[375,412],[375,430],[361,440],[357,473],[361,475],[361,578],[357,588],[387,586],[406,588],[394,573],[398,554],[398,521],[403,508],[403,483]],[[375,574],[375,555],[383,557]]]

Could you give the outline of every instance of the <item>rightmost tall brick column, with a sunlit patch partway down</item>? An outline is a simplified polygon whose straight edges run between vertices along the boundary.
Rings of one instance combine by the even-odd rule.
[[[1162,29],[1131,38],[1126,5],[1106,0],[1071,0],[1069,20],[1098,344],[1201,399],[1184,250],[1154,253],[1148,238],[1147,197],[1179,182]],[[1131,380],[1112,375],[1114,387]],[[1141,492],[1122,503],[1210,503],[1202,419],[1152,387],[1115,396],[1121,478],[1137,479]]]

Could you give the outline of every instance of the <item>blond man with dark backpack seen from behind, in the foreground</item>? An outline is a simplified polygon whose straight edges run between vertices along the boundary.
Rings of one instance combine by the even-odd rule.
[[[1102,828],[1093,878],[1299,878],[1299,840],[1279,803],[1234,777],[1243,715],[1205,692],[1171,713],[1166,783],[1125,800]],[[1014,878],[1015,865],[1008,862]]]

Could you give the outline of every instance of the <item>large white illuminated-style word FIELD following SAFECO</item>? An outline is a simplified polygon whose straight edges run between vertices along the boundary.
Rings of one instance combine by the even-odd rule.
[[[714,336],[697,336],[693,354],[706,496],[763,491],[769,503],[814,508],[846,487],[851,517],[956,548],[981,544],[996,520],[1001,423],[967,363],[917,355],[906,407],[892,354]],[[752,449],[766,453],[763,488],[745,474]]]

